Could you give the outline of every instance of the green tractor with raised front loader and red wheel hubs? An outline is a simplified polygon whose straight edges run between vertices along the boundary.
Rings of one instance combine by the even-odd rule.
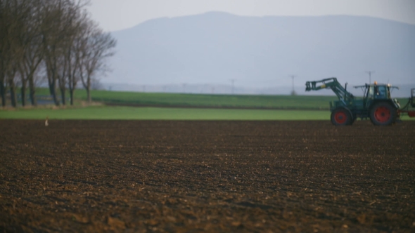
[[[402,114],[415,117],[415,111],[409,107],[415,107],[415,88],[411,89],[411,98],[407,105],[400,107],[396,99],[390,98],[390,90],[397,88],[390,84],[365,84],[355,86],[364,91],[363,98],[355,98],[352,93],[337,81],[336,78],[322,79],[319,81],[307,81],[305,91],[317,91],[324,88],[331,88],[337,95],[338,100],[330,102],[331,122],[335,126],[347,126],[353,124],[355,119],[367,119],[376,126],[388,126],[400,121]]]

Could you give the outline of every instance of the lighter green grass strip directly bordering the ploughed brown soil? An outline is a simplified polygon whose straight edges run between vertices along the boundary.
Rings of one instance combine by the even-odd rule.
[[[328,120],[329,111],[263,109],[196,109],[169,107],[84,107],[0,110],[0,119],[114,120]]]

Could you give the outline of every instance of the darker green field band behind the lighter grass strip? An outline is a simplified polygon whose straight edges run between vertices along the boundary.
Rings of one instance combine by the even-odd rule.
[[[86,93],[77,90],[75,96],[86,100]],[[274,109],[328,109],[335,96],[305,95],[207,95],[183,93],[139,93],[93,91],[92,100],[115,104],[150,105],[152,107],[254,107]]]

